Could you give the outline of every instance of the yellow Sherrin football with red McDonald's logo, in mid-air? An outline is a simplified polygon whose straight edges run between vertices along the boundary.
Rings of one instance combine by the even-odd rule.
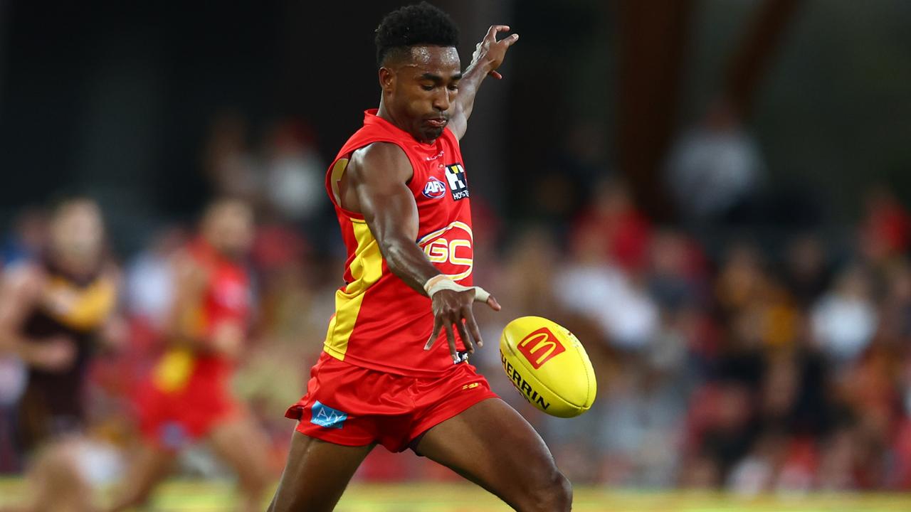
[[[500,336],[500,359],[518,393],[548,415],[578,416],[595,401],[589,354],[558,323],[539,316],[508,323]]]

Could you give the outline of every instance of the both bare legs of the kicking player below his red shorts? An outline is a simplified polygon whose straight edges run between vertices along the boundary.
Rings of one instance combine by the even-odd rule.
[[[335,445],[295,431],[269,512],[333,510],[372,448]],[[572,488],[547,445],[525,418],[498,398],[434,426],[417,451],[520,512],[564,512],[572,506]]]

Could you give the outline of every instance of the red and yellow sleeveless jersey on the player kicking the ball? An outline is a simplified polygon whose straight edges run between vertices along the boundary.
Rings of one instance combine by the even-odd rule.
[[[417,141],[367,110],[363,128],[348,139],[326,174],[347,249],[345,285],[335,292],[335,314],[323,350],[356,366],[404,375],[433,375],[452,366],[445,333],[430,351],[424,345],[434,327],[430,299],[395,276],[380,253],[363,215],[342,208],[338,183],[352,153],[374,142],[404,150],[414,175],[408,188],[418,212],[418,246],[453,281],[472,284],[473,235],[468,182],[458,140],[446,128],[433,143]],[[368,172],[384,172],[369,169]],[[455,333],[456,345],[464,345]]]

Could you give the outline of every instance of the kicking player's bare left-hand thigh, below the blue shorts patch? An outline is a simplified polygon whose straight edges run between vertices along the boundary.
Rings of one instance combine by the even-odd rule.
[[[335,507],[374,445],[343,446],[294,431],[288,463],[269,512],[322,512]]]

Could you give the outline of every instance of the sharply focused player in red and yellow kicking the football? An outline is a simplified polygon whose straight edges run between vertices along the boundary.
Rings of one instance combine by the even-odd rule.
[[[477,88],[518,36],[491,26],[463,74],[457,28],[422,3],[376,30],[378,110],[326,176],[348,250],[345,285],[270,510],[332,510],[381,444],[448,466],[522,511],[569,510],[572,491],[531,425],[467,363],[473,302],[469,189],[458,139]]]

